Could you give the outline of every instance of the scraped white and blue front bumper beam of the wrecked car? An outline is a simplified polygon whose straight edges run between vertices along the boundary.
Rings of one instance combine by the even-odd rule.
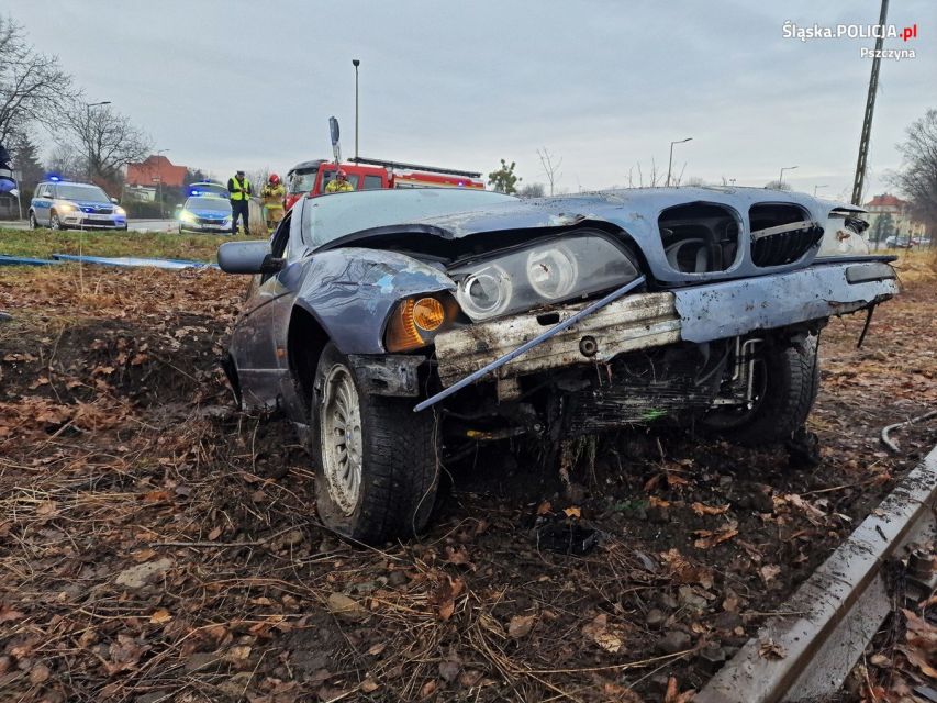
[[[897,292],[883,261],[811,268],[693,286],[616,300],[509,361],[504,379],[575,364],[610,361],[636,349],[677,342],[703,343],[841,315]],[[569,319],[588,303],[513,315],[438,335],[439,379],[448,387]]]

